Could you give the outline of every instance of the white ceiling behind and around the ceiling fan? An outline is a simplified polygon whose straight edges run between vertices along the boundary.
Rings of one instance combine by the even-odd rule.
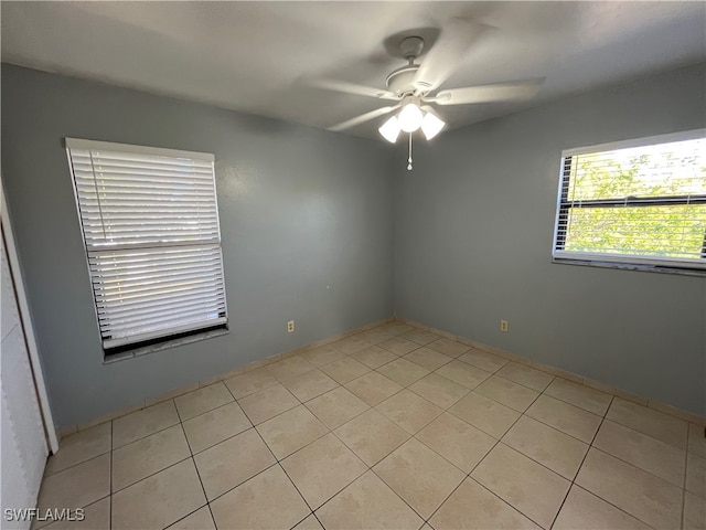
[[[704,61],[706,3],[9,2],[2,61],[329,127],[388,102],[314,88],[385,87],[388,36],[453,17],[491,25],[442,88],[545,77],[528,104],[442,107],[451,127]],[[424,60],[424,57],[421,57]],[[376,136],[382,121],[350,130]]]

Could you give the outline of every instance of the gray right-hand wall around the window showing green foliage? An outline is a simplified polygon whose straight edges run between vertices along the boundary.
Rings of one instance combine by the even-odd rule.
[[[397,152],[396,314],[706,414],[705,278],[550,263],[561,150],[704,127],[704,94],[702,65]]]

